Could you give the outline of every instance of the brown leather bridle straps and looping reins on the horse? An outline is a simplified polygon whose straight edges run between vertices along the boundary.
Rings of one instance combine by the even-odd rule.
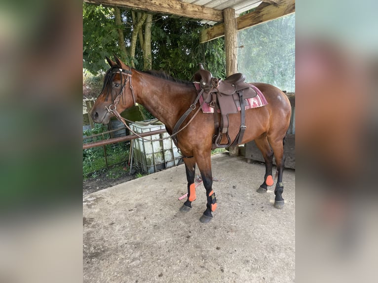
[[[129,67],[128,67],[129,68]],[[202,102],[202,104],[200,104],[200,106],[198,107],[197,111],[194,113],[194,115],[190,118],[189,122],[179,130],[180,126],[182,125],[182,123],[184,122],[184,120],[189,116],[190,112],[193,111],[195,108],[196,108],[196,104],[200,98],[200,96],[202,95],[203,93],[203,89],[198,93],[197,97],[195,98],[194,102],[190,105],[190,107],[188,108],[188,110],[180,117],[180,119],[177,121],[175,127],[173,128],[173,133],[172,135],[168,136],[168,137],[165,137],[165,138],[162,138],[162,139],[156,139],[156,140],[150,140],[150,139],[146,139],[144,137],[141,137],[140,135],[138,135],[137,133],[135,133],[133,130],[130,129],[130,127],[127,125],[126,121],[127,122],[130,122],[130,123],[135,123],[135,121],[131,121],[131,120],[128,120],[126,118],[123,118],[119,112],[116,110],[116,106],[117,104],[119,103],[119,99],[121,98],[122,94],[123,94],[123,91],[125,90],[125,86],[127,84],[127,82],[130,83],[130,90],[131,90],[131,95],[133,97],[133,101],[134,101],[134,106],[136,106],[136,101],[135,101],[135,95],[134,95],[134,88],[131,84],[131,70],[124,70],[124,69],[120,69],[120,68],[116,68],[117,71],[112,71],[112,73],[119,73],[119,74],[123,74],[123,75],[126,75],[126,80],[125,80],[125,83],[124,85],[122,86],[122,89],[120,91],[120,93],[117,95],[117,97],[114,99],[113,101],[113,104],[111,104],[109,107],[108,106],[105,106],[105,108],[108,110],[108,112],[110,113],[113,113],[114,116],[120,121],[123,123],[123,125],[125,125],[125,127],[131,132],[133,133],[135,136],[137,136],[138,138],[142,139],[142,140],[145,140],[145,141],[164,141],[164,140],[167,140],[169,138],[172,138],[172,140],[175,142],[176,146],[177,146],[177,138],[176,138],[176,135],[178,133],[180,133],[182,130],[184,130],[188,125],[189,123],[194,119],[194,117],[198,114],[199,110],[201,109],[202,105],[205,103],[205,100]],[[113,109],[112,109],[113,107]]]

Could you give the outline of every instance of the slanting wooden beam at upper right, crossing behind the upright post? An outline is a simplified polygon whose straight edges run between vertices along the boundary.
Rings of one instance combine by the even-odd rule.
[[[237,30],[244,30],[295,12],[295,0],[282,0],[279,4],[262,3],[253,12],[236,18]],[[219,24],[201,32],[200,43],[225,35],[225,25]]]

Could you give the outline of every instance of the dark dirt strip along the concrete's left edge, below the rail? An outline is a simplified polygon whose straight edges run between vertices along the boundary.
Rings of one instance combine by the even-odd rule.
[[[109,178],[105,173],[94,178],[88,178],[83,180],[83,196],[133,180],[135,178],[135,175],[124,175],[119,178]]]

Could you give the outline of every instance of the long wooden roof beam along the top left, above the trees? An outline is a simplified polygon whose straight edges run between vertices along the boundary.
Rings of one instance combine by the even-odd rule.
[[[84,0],[84,2],[223,22],[223,11],[179,0]]]

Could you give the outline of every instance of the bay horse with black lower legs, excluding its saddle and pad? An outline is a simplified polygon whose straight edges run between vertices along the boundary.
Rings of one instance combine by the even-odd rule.
[[[118,114],[138,103],[159,119],[171,135],[176,122],[190,107],[193,107],[192,104],[197,97],[194,84],[174,79],[164,72],[131,69],[117,57],[115,62],[108,57],[106,59],[111,68],[105,75],[103,89],[91,110],[93,121],[107,124],[114,115],[115,108]],[[240,144],[255,140],[263,153],[265,176],[264,182],[257,190],[259,193],[265,193],[267,186],[272,186],[274,183],[272,177],[274,153],[277,166],[274,207],[281,209],[284,206],[283,143],[290,123],[291,106],[287,96],[278,88],[266,83],[253,84],[261,90],[268,104],[245,110],[246,129]],[[199,102],[194,106],[200,107]],[[200,221],[208,223],[213,217],[212,212],[217,208],[211,171],[211,149],[216,131],[212,113],[199,111],[195,114],[197,114],[195,117],[193,113],[189,114],[185,120],[186,125],[183,126],[186,126],[185,129],[175,135],[176,145],[184,156],[188,180],[188,199],[180,211],[189,212],[191,202],[196,198],[194,175],[197,164],[207,196],[206,210]],[[193,119],[188,124],[191,118]],[[240,114],[229,114],[228,119],[229,137],[233,141],[239,132]]]

